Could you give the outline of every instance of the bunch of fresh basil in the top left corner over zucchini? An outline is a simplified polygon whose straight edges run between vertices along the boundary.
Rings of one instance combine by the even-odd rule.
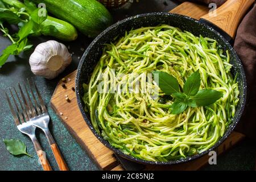
[[[34,3],[24,0],[24,5],[26,7],[19,9],[15,6],[7,7],[4,3],[0,3],[0,32],[12,42],[10,46],[3,49],[2,55],[0,55],[0,68],[6,63],[10,55],[19,55],[21,52],[32,48],[33,45],[29,43],[28,36],[40,36],[48,29],[57,31],[56,27],[43,24],[47,19],[47,11],[46,16],[39,16],[41,9],[37,8]],[[10,35],[5,23],[18,24],[19,31]]]

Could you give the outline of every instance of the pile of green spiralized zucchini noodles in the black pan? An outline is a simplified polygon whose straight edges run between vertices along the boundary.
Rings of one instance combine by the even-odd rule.
[[[229,52],[224,52],[216,40],[166,24],[131,30],[104,47],[89,83],[83,85],[85,111],[97,133],[135,158],[168,162],[199,154],[224,135],[236,111],[239,91],[229,60]],[[197,70],[200,90],[214,89],[224,96],[210,106],[188,107],[177,115],[171,114],[171,96],[166,96],[155,81],[142,81],[147,73],[167,72],[182,90]],[[113,88],[127,91],[128,86],[122,85],[133,73],[139,75],[136,80],[141,87],[155,88],[159,97],[152,98],[149,91],[110,92]],[[110,85],[113,80],[117,80],[115,86]],[[98,92],[99,86],[105,92]]]

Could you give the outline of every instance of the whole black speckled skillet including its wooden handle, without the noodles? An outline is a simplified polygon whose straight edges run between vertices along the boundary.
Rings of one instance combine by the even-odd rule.
[[[90,130],[92,130],[93,134],[106,147],[114,151],[115,154],[118,154],[125,159],[129,159],[133,162],[141,164],[176,164],[181,162],[188,162],[189,160],[199,158],[202,155],[208,154],[209,151],[214,150],[214,148],[220,145],[229,136],[229,134],[233,131],[234,127],[236,127],[245,107],[245,72],[243,70],[241,60],[239,59],[237,53],[234,51],[233,47],[229,42],[233,40],[241,18],[246,13],[247,9],[249,9],[250,5],[253,4],[253,2],[254,0],[228,0],[224,5],[217,9],[216,17],[208,14],[203,16],[199,21],[188,16],[170,13],[149,13],[136,15],[113,24],[105,31],[103,31],[100,35],[98,35],[82,56],[76,75],[77,102],[79,104],[82,117],[84,117],[86,124],[90,127]],[[131,30],[131,28],[135,29],[147,26],[157,26],[158,24],[169,24],[174,27],[179,27],[181,30],[189,31],[196,36],[202,35],[204,37],[217,40],[220,46],[222,46],[222,48],[224,49],[224,52],[228,50],[230,53],[230,63],[233,64],[232,75],[234,76],[238,74],[237,81],[238,88],[240,90],[240,101],[237,106],[236,114],[234,115],[232,125],[228,127],[224,136],[207,151],[201,152],[197,155],[189,156],[185,159],[171,160],[169,162],[151,162],[147,160],[137,159],[133,156],[124,154],[117,148],[112,147],[108,141],[104,140],[96,132],[96,130],[94,130],[92,123],[90,122],[89,115],[86,114],[83,109],[84,103],[82,101],[82,96],[84,95],[82,83],[89,82],[89,75],[93,72],[93,69],[97,64],[98,60],[100,60],[104,44],[112,42],[112,40],[116,36],[123,36],[125,34],[125,31],[129,31]]]

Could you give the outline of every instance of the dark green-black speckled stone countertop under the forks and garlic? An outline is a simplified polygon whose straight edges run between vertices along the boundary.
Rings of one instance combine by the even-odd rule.
[[[126,18],[127,16],[136,14],[156,11],[168,12],[178,4],[179,3],[177,1],[170,0],[140,0],[139,2],[135,2],[134,0],[133,4],[129,3],[122,9],[111,10],[111,13],[115,21],[117,21]],[[42,36],[40,38],[31,38],[30,40],[36,46],[41,42],[46,42],[47,40],[51,39],[52,38]],[[63,42],[66,46],[71,47],[69,52],[74,52],[75,55],[73,55],[72,64],[69,65],[69,67],[54,80],[46,80],[42,77],[38,77],[32,74],[30,71],[30,65],[28,63],[28,58],[32,51],[26,52],[19,57],[9,57],[9,61],[0,69],[0,170],[42,170],[31,140],[20,133],[16,128],[5,97],[3,97],[3,91],[5,91],[10,86],[16,86],[18,82],[23,81],[28,77],[34,78],[36,85],[38,85],[40,92],[43,95],[43,100],[47,103],[47,108],[51,116],[51,122],[49,125],[50,130],[62,154],[64,155],[69,168],[71,170],[98,169],[93,160],[90,159],[88,154],[86,154],[86,151],[82,150],[79,144],[77,144],[76,140],[64,127],[63,123],[61,123],[60,119],[49,106],[49,101],[51,100],[51,96],[57,82],[63,76],[68,75],[68,73],[71,73],[72,71],[75,71],[77,65],[79,64],[78,57],[81,57],[83,53],[80,48],[86,48],[91,41],[92,39],[88,39],[83,35],[79,35],[79,38],[75,42]],[[9,44],[10,41],[7,38],[0,36],[0,52]],[[46,137],[44,137],[44,134],[40,130],[37,130],[36,133],[38,135],[39,142],[42,144],[43,150],[46,151],[47,158],[51,163],[52,168],[57,170],[57,164],[51,152],[51,148],[48,145]],[[15,157],[10,155],[6,150],[2,139],[23,140],[27,145],[28,154],[31,154],[33,158],[29,158],[28,156]],[[217,165],[204,167],[203,170],[253,169],[255,151],[256,147],[254,143],[246,139],[229,152],[219,156],[217,159]]]

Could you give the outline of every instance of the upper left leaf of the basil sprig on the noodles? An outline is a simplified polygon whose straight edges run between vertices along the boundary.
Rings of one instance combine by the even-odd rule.
[[[171,95],[175,92],[180,92],[179,83],[176,78],[172,75],[169,75],[166,72],[153,72],[154,76],[159,78],[159,88],[166,94]]]

